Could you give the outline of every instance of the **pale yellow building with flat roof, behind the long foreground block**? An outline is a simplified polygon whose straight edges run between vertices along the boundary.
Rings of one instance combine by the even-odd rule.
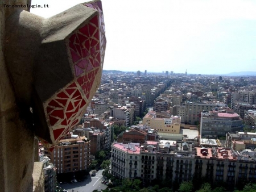
[[[143,124],[151,129],[162,133],[180,133],[180,116],[171,118],[156,118],[156,112],[150,111],[143,117]]]

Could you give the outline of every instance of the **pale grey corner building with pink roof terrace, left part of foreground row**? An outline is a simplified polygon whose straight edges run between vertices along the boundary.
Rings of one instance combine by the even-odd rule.
[[[189,181],[193,174],[193,153],[192,148],[189,151],[189,148],[183,149],[182,146],[181,150],[177,150],[176,141],[146,141],[141,147],[135,143],[114,143],[112,174],[119,178],[140,177],[144,182],[155,178]],[[183,155],[185,157],[181,159]]]

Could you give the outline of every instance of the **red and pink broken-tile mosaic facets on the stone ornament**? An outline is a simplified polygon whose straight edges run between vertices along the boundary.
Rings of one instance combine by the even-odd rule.
[[[72,58],[74,80],[44,103],[53,144],[44,140],[42,142],[50,151],[57,141],[79,123],[86,103],[93,97],[92,89],[100,84],[100,80],[95,80],[101,77],[106,47],[102,6],[100,1],[84,5],[97,10],[98,15],[68,39],[67,51]]]

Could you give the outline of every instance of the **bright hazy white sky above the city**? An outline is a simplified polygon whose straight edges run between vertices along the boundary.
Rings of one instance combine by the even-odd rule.
[[[86,0],[32,0],[49,17]],[[102,0],[104,69],[224,74],[256,71],[256,1]]]

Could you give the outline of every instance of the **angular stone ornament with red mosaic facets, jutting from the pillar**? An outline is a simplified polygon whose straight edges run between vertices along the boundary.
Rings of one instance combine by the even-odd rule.
[[[6,31],[18,105],[32,107],[35,133],[52,150],[79,123],[100,84],[106,47],[101,2],[48,19],[18,10],[7,19]]]

